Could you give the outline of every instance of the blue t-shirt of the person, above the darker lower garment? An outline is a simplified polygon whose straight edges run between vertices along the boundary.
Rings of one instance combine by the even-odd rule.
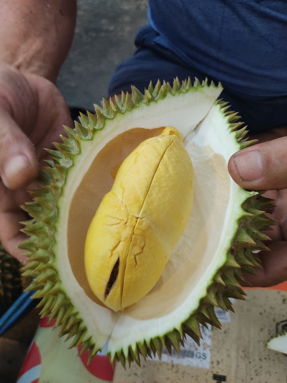
[[[150,0],[155,42],[255,98],[287,95],[287,0]]]

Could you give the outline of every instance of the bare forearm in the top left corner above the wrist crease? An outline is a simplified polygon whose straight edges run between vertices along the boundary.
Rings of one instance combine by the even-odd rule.
[[[76,14],[77,0],[0,0],[0,62],[55,82]]]

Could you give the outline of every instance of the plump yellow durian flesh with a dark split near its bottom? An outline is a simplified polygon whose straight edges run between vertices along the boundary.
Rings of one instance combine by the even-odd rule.
[[[120,311],[157,283],[191,214],[193,170],[177,129],[143,141],[119,167],[85,243],[91,290]]]

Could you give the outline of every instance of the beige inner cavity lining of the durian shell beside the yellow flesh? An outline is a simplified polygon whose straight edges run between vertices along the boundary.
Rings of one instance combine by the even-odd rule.
[[[69,262],[86,295],[98,304],[102,305],[91,291],[85,275],[86,232],[103,196],[113,185],[112,170],[117,163],[122,162],[140,142],[159,135],[162,129],[134,128],[116,136],[96,155],[73,195],[67,232]],[[194,203],[188,228],[155,288],[138,303],[125,309],[127,315],[136,319],[160,317],[183,303],[208,268],[214,249],[218,247],[229,195],[227,163],[210,147],[193,143],[188,151],[195,174]]]

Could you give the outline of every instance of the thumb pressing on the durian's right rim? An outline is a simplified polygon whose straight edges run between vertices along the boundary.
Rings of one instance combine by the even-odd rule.
[[[228,170],[233,180],[245,189],[286,189],[287,137],[266,141],[233,154]]]

